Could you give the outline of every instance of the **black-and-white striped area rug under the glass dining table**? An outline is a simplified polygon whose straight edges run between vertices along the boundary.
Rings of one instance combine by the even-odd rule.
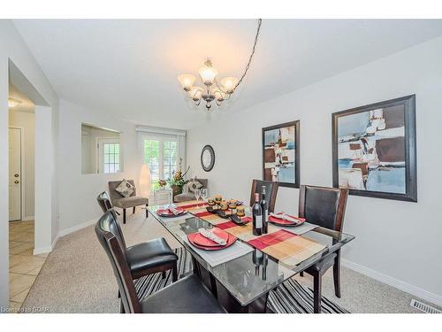
[[[174,251],[179,258],[179,278],[192,274],[192,256],[184,248]],[[164,279],[161,273],[142,277],[135,281],[135,289],[138,297],[142,299],[169,284],[171,284],[171,271],[167,271]],[[331,302],[327,297],[322,297],[321,305],[322,313],[348,313],[346,309]],[[268,307],[273,313],[313,313],[313,290],[289,279],[270,292]]]

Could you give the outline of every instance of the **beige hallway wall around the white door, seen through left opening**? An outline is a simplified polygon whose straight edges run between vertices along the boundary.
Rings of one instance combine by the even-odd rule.
[[[35,151],[35,114],[34,112],[9,111],[9,126],[23,127],[24,135],[24,159],[22,160],[24,179],[24,214],[21,216],[24,220],[34,219],[34,151]]]

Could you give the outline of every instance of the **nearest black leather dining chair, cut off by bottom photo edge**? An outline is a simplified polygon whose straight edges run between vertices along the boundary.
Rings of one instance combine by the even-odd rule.
[[[115,215],[109,211],[103,214],[95,225],[95,233],[110,260],[118,290],[121,296],[121,313],[225,313],[195,275],[189,275],[162,290],[139,299],[133,283],[133,275],[126,259],[124,245],[115,235]]]

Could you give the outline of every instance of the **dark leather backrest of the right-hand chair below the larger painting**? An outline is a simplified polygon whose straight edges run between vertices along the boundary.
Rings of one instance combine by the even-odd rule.
[[[301,185],[299,216],[324,228],[341,231],[348,189]]]

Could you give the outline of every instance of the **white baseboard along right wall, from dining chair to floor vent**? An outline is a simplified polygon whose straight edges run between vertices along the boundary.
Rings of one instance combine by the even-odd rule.
[[[420,297],[423,300],[431,302],[432,304],[442,306],[442,296],[438,294],[434,294],[428,290],[423,290],[421,288],[415,287],[407,282],[402,282],[401,280],[393,278],[390,275],[381,274],[380,272],[372,270],[369,267],[361,266],[347,259],[341,259],[341,264],[342,266],[345,266],[355,272],[367,275],[370,278],[377,280],[378,282],[384,282],[389,286],[397,288],[398,290],[403,290],[408,294],[411,294],[415,297]]]

